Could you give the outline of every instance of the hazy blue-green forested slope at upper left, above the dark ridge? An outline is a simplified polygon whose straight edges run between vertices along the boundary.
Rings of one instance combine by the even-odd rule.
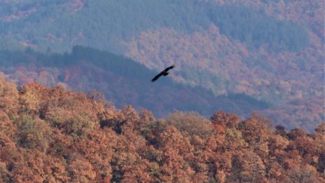
[[[190,11],[193,0],[181,1],[26,1],[0,5],[1,36],[64,52],[78,44],[121,53],[125,39],[144,29],[174,27],[183,31],[208,25]],[[29,13],[25,13],[29,12]],[[205,20],[206,19],[206,20]],[[197,24],[196,22],[200,22]],[[38,27],[38,29],[34,29]],[[11,42],[9,41],[8,44]]]

